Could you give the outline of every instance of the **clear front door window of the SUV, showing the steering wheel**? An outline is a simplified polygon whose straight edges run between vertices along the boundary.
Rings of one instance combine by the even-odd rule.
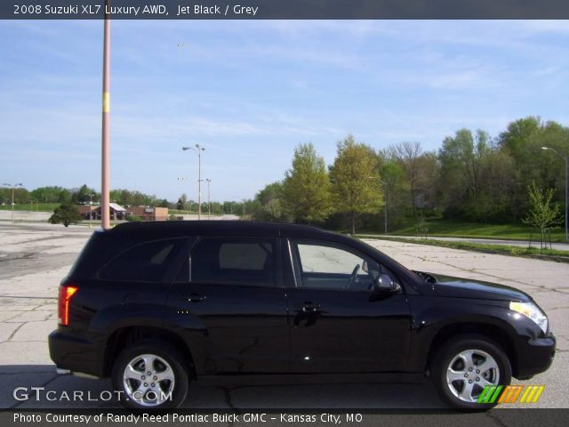
[[[313,289],[372,291],[381,267],[349,247],[326,242],[291,241],[297,286]]]

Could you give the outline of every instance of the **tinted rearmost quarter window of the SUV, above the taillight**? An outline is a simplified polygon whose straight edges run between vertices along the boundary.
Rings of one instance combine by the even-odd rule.
[[[119,254],[99,271],[99,278],[141,282],[159,282],[182,240],[156,240]]]

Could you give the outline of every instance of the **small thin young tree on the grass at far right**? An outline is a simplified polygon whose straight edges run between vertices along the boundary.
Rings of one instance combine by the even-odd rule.
[[[553,189],[544,190],[535,185],[535,182],[532,182],[528,186],[527,190],[530,200],[530,211],[522,222],[531,227],[540,229],[541,249],[543,249],[546,230],[563,222],[559,211],[559,205],[551,205]]]

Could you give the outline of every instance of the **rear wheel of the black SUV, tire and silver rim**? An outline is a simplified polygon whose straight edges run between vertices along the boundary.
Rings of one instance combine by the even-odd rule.
[[[145,411],[176,408],[188,394],[188,369],[172,344],[145,339],[133,342],[118,355],[112,382],[124,407]]]

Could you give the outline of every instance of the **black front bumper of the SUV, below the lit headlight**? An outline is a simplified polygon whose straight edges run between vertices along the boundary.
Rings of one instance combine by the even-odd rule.
[[[523,380],[547,371],[555,358],[556,339],[553,334],[530,339],[518,346],[517,372],[514,376]]]

